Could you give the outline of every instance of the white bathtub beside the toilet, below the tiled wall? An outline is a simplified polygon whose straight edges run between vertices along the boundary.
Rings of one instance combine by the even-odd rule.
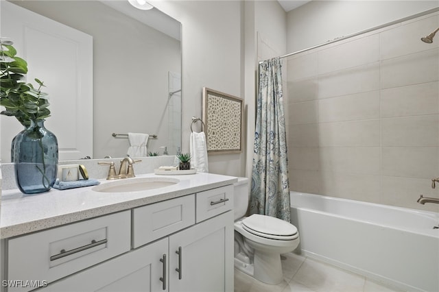
[[[305,256],[406,291],[439,291],[438,213],[290,195]]]

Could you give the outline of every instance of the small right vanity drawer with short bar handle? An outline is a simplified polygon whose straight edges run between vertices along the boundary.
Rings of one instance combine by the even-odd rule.
[[[222,186],[197,193],[197,223],[233,208],[233,186]]]

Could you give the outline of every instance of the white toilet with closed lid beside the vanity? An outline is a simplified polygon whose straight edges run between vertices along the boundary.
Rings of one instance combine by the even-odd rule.
[[[265,215],[244,217],[250,191],[248,178],[234,184],[235,202],[235,267],[268,284],[283,280],[281,254],[298,247],[296,226]]]

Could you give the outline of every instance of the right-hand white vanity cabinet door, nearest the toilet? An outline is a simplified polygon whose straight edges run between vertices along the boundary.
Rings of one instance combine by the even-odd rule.
[[[169,291],[233,291],[232,211],[169,237]]]

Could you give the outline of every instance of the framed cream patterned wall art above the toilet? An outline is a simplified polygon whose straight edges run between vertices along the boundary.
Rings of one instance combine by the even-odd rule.
[[[202,119],[209,154],[241,153],[244,99],[203,88]]]

